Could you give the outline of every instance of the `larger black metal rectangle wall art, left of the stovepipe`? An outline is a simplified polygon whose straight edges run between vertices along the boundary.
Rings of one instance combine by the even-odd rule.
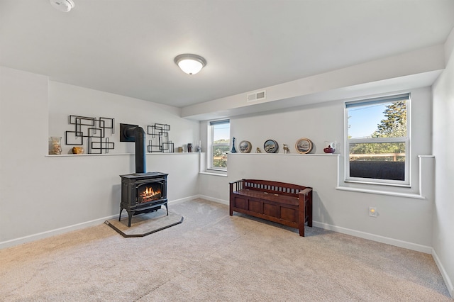
[[[89,116],[69,116],[68,123],[74,125],[74,131],[65,132],[66,145],[84,145],[87,138],[88,153],[109,153],[115,148],[114,142],[109,142],[106,130],[115,133],[115,118],[92,118]]]

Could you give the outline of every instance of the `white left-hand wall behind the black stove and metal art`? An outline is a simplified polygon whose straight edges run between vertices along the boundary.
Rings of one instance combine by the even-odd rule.
[[[177,144],[199,140],[199,123],[177,108],[107,94],[0,67],[0,247],[102,223],[120,210],[120,174],[135,172],[132,143],[118,123],[167,123]],[[47,155],[48,136],[64,136],[70,114],[116,118],[110,155]],[[172,136],[173,135],[173,136]],[[130,144],[130,145],[128,145]],[[176,144],[176,145],[177,145]],[[67,153],[71,146],[63,146]],[[169,173],[169,201],[198,194],[197,153],[147,155],[147,170]]]

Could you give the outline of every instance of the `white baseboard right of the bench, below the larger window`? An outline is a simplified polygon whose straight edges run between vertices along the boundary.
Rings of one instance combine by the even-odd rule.
[[[351,230],[349,228],[342,228],[336,225],[330,225],[328,223],[320,223],[318,221],[314,221],[313,225],[317,228],[323,228],[325,230],[333,230],[338,233],[352,235],[355,237],[360,237],[372,241],[386,243],[387,245],[394,245],[396,247],[404,247],[409,250],[414,250],[416,252],[424,252],[426,254],[432,254],[432,247],[428,247],[427,245],[418,245],[412,242],[406,242],[402,240],[397,240],[389,237],[384,237],[380,235],[374,235],[370,233],[361,232],[359,230]]]

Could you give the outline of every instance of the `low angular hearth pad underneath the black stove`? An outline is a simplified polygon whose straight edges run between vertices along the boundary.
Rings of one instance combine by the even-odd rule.
[[[139,214],[133,216],[131,219],[131,227],[128,227],[128,216],[106,220],[106,225],[116,230],[117,233],[123,237],[143,237],[147,236],[160,230],[165,230],[171,226],[177,225],[183,222],[182,216],[167,211],[165,208],[160,208],[155,212]]]

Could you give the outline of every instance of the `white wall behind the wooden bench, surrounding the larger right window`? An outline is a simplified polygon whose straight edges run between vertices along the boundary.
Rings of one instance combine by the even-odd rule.
[[[397,92],[397,91],[396,91]],[[402,92],[402,91],[399,91]],[[408,91],[407,91],[408,92]],[[372,240],[431,252],[433,194],[431,191],[432,159],[425,159],[423,175],[424,197],[419,196],[419,157],[431,154],[431,89],[413,89],[411,92],[412,126],[412,187],[356,186],[358,189],[397,191],[413,197],[402,197],[336,189],[338,170],[343,167],[343,101],[330,101],[301,106],[282,111],[231,118],[231,137],[248,140],[253,153],[228,156],[228,177],[201,176],[202,196],[228,201],[228,181],[240,178],[259,178],[287,181],[312,186],[314,195],[314,220],[316,226],[342,233],[349,233]],[[389,91],[390,94],[393,91]],[[372,96],[364,96],[369,98]],[[203,127],[206,127],[206,123]],[[201,129],[202,130],[202,129]],[[203,131],[203,130],[202,130]],[[314,142],[311,154],[299,155],[294,144],[299,138]],[[279,155],[255,154],[263,151],[263,142],[277,140]],[[324,155],[325,140],[341,142],[337,156]],[[282,144],[290,147],[291,155],[282,154]],[[339,164],[338,164],[339,163]],[[342,169],[340,169],[342,170]],[[342,177],[342,173],[339,177]],[[341,179],[342,180],[342,179]],[[205,184],[209,184],[206,185]],[[426,186],[428,184],[428,186]],[[214,187],[218,190],[214,190]],[[378,218],[368,216],[369,206],[377,207]]]

